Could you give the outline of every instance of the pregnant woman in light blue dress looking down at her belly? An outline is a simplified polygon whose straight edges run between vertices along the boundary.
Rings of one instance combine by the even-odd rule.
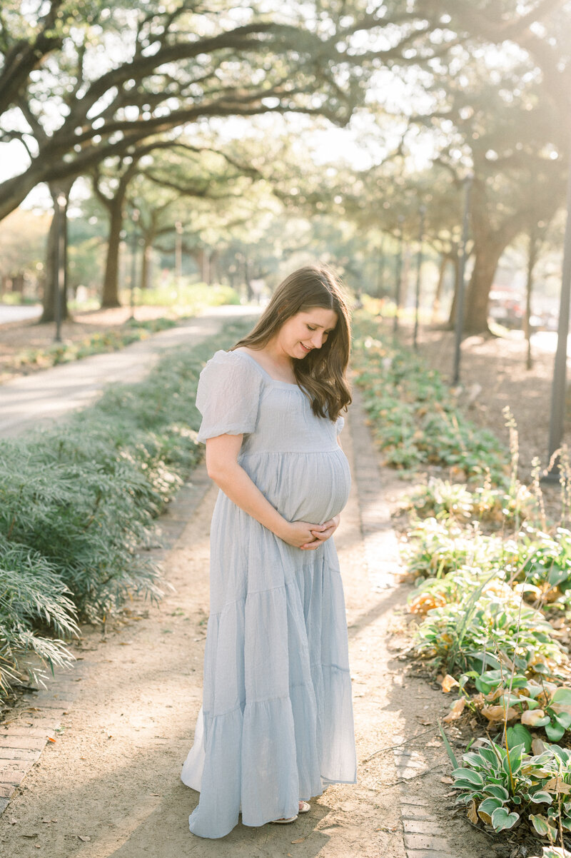
[[[345,601],[331,536],[351,484],[337,435],[350,329],[333,271],[298,269],[201,372],[211,529],[204,696],[182,779],[200,837],[293,822],[355,783]]]

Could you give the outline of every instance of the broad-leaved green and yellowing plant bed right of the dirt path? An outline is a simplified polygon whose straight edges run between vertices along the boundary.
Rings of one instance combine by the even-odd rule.
[[[507,446],[464,419],[438,373],[363,313],[356,325],[358,384],[385,463],[422,470],[402,511],[401,556],[416,587],[414,654],[443,692],[443,720],[473,739],[454,787],[475,825],[522,822],[566,855],[571,831],[571,467],[560,458],[561,503],[549,521],[532,462],[519,478],[517,426],[504,408]],[[454,444],[453,444],[453,439]],[[441,473],[446,468],[448,479]],[[436,473],[435,473],[436,472]],[[442,738],[451,752],[446,734]],[[548,744],[557,743],[557,744]],[[557,846],[556,846],[557,843]]]

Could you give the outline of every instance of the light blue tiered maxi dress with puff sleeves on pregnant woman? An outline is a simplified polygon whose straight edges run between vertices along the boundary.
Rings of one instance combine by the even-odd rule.
[[[238,462],[288,521],[323,523],[346,505],[340,417],[316,417],[296,384],[245,352],[201,372],[200,441],[243,433]],[[182,779],[200,792],[200,837],[298,813],[357,762],[345,599],[333,539],[301,551],[219,492],[213,512],[203,704]]]

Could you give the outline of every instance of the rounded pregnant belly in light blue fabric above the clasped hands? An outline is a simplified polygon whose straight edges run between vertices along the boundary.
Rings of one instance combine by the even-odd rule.
[[[321,524],[340,513],[349,498],[351,472],[340,447],[316,453],[247,456],[242,464],[289,522]]]

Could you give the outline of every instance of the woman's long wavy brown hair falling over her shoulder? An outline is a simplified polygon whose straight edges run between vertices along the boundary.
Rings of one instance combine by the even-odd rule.
[[[351,351],[351,322],[340,278],[327,265],[307,265],[294,271],[279,284],[258,323],[231,348],[261,349],[276,335],[287,319],[312,307],[323,307],[337,314],[337,324],[321,348],[314,348],[301,359],[293,360],[298,386],[309,397],[318,417],[336,420],[352,401],[346,379]]]

